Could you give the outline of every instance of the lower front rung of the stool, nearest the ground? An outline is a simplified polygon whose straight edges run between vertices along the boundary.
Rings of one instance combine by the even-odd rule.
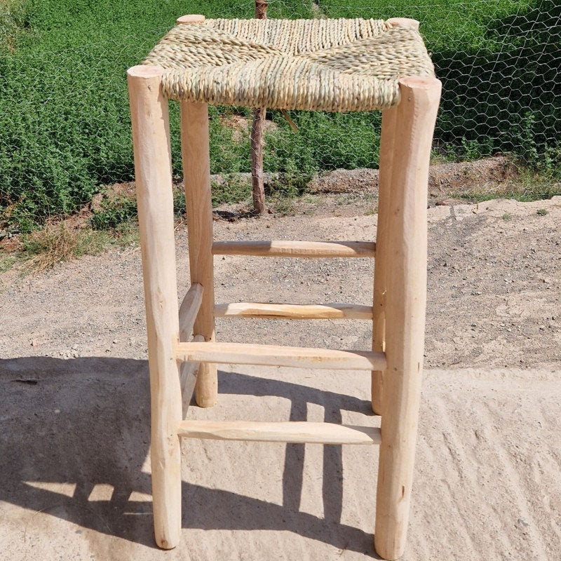
[[[178,434],[210,440],[308,444],[379,444],[379,428],[307,421],[182,421]]]

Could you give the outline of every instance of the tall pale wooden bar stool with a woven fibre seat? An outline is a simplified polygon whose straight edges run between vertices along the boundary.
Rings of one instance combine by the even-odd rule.
[[[128,71],[151,387],[156,543],[180,541],[180,438],[380,446],[374,545],[405,548],[421,388],[426,197],[440,81],[417,32],[393,20],[205,20],[187,15]],[[168,99],[181,104],[191,288],[177,306]],[[212,242],[208,103],[381,109],[372,241]],[[376,257],[373,306],[215,305],[213,255]],[[215,342],[215,316],[373,320],[372,351]],[[217,402],[217,363],[372,371],[381,428],[305,422],[188,421],[182,399]],[[183,393],[183,397],[182,397]]]

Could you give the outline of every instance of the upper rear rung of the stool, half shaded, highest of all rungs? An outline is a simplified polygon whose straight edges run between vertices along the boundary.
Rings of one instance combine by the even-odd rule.
[[[214,255],[257,257],[374,257],[376,245],[370,241],[217,241]]]

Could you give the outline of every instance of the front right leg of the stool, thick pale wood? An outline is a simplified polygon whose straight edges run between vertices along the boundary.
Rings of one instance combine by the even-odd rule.
[[[400,80],[387,213],[386,358],[374,545],[384,559],[405,549],[421,394],[426,304],[428,165],[440,81]],[[379,217],[384,219],[384,217]]]

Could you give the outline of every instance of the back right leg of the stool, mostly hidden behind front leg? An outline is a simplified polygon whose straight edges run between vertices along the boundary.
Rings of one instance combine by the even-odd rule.
[[[396,138],[396,107],[382,112],[380,163],[378,182],[378,224],[376,228],[376,258],[374,259],[374,304],[372,307],[372,351],[386,350],[386,255],[388,242],[388,205],[391,194],[393,142]],[[381,415],[383,372],[372,372],[372,411]]]

